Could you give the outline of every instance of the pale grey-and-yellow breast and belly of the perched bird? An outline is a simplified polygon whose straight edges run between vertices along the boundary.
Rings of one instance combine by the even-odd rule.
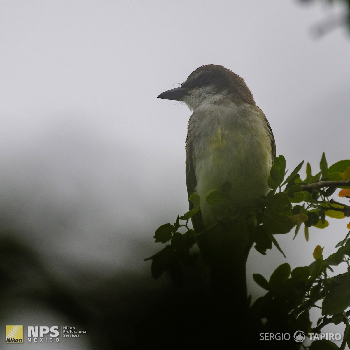
[[[267,193],[271,139],[265,116],[256,109],[216,109],[212,113],[207,109],[198,114],[190,119],[188,132],[193,140],[196,192],[201,196],[202,217],[208,226],[224,213],[221,207],[209,206],[205,198],[222,183],[231,183],[230,206],[252,205]]]

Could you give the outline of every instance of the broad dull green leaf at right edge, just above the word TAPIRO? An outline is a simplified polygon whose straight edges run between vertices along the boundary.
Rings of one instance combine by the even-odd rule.
[[[322,302],[322,312],[325,315],[342,313],[350,306],[349,285],[339,285],[331,288]]]

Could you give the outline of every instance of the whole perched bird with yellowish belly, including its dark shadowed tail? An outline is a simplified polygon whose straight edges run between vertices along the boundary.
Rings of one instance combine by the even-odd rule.
[[[181,101],[192,111],[185,142],[186,183],[188,197],[197,193],[201,198],[200,211],[191,218],[197,235],[214,225],[228,208],[249,208],[268,193],[275,140],[242,77],[222,65],[202,65],[158,98]],[[220,191],[226,182],[231,185],[224,194],[227,203],[209,205],[207,195]],[[191,201],[189,208],[193,209]],[[210,265],[214,297],[225,300],[222,308],[230,310],[222,291],[233,291],[244,304],[245,264],[251,244],[247,230],[237,232],[236,226],[229,235],[223,231],[213,230],[202,241],[198,238],[198,246]]]

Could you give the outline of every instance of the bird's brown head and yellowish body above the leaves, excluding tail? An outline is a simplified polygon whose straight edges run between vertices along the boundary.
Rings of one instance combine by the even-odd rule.
[[[201,197],[201,210],[192,218],[197,233],[222,214],[222,206],[211,206],[205,198],[223,183],[231,184],[231,207],[252,205],[267,194],[275,140],[243,78],[222,65],[203,65],[158,98],[184,102],[193,111],[186,139],[186,183],[188,197]],[[189,205],[192,209],[191,201]]]

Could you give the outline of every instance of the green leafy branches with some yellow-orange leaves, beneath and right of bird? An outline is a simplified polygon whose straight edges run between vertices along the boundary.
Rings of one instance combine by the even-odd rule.
[[[307,163],[306,178],[302,180],[299,172],[303,163],[287,175],[285,158],[282,155],[276,157],[268,178],[271,188],[269,193],[260,198],[253,207],[228,208],[225,216],[203,232],[195,233],[188,225],[190,218],[200,210],[201,203],[197,194],[191,195],[189,200],[193,202],[194,208],[178,216],[174,224],[162,225],[155,232],[155,241],[167,245],[159,253],[145,259],[152,260],[153,277],[159,278],[167,271],[170,278],[177,285],[181,285],[183,267],[194,264],[197,259],[198,254],[192,249],[197,239],[242,217],[252,219],[255,223],[249,234],[250,242],[258,252],[265,255],[274,245],[284,256],[276,235],[294,230],[295,238],[303,225],[308,241],[311,226],[323,229],[329,225],[326,217],[349,217],[350,206],[335,201],[331,196],[337,188],[341,188],[339,196],[350,197],[350,160],[339,161],[328,167],[323,153],[320,172],[312,174],[311,166]],[[229,183],[222,184],[218,191],[208,194],[206,202],[209,205],[228,203],[229,189]],[[180,221],[185,223],[180,224]],[[185,232],[181,233],[181,230]],[[347,337],[345,342],[350,344],[347,331],[350,311],[345,312],[350,306],[350,272],[328,276],[328,271],[334,272],[334,267],[342,263],[347,264],[350,269],[349,237],[350,231],[336,245],[337,251],[326,259],[323,258],[323,248],[317,246],[313,254],[314,261],[309,266],[299,266],[291,271],[288,263],[282,264],[275,269],[269,280],[260,274],[253,274],[254,281],[267,291],[249,309],[249,317],[257,329],[268,332],[285,325],[290,334],[296,330],[308,334],[320,332],[329,323],[344,322],[344,337]],[[320,303],[322,306],[318,305]],[[310,309],[315,307],[321,309],[324,317],[312,328]],[[313,342],[310,350],[317,349],[320,342],[325,341],[323,339]]]

